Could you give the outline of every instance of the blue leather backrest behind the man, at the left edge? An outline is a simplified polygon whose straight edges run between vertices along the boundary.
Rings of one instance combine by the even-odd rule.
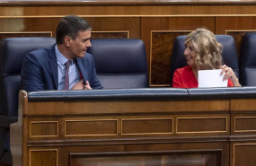
[[[54,38],[8,38],[1,41],[1,114],[17,116],[23,57],[32,50],[49,48]]]

